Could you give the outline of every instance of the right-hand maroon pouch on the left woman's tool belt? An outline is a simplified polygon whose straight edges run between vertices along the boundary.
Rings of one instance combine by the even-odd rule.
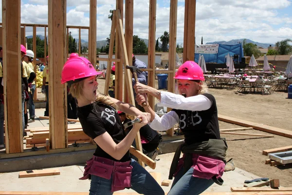
[[[111,192],[124,190],[131,187],[131,175],[133,167],[131,161],[115,162],[113,169],[113,177],[111,182]]]

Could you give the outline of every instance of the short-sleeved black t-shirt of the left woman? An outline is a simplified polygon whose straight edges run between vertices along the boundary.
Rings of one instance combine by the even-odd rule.
[[[77,115],[84,133],[92,139],[108,132],[113,141],[118,144],[126,137],[120,117],[117,111],[111,106],[94,102],[83,107],[78,107]],[[94,155],[121,162],[130,160],[129,151],[121,160],[117,160],[102,150],[98,144]]]

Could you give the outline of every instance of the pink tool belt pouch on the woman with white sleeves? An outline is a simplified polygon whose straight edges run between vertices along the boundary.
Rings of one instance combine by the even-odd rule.
[[[216,176],[216,178],[219,178],[224,173],[225,164],[218,158],[193,155],[193,163],[194,177],[211,179]]]

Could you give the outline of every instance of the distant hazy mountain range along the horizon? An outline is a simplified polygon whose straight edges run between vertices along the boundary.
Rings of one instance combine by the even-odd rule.
[[[37,35],[37,37],[39,37],[40,39],[45,39],[45,36],[43,35]],[[48,36],[47,36],[48,37]],[[26,38],[30,39],[30,38],[33,38],[33,36],[27,36]],[[79,42],[79,39],[75,39],[77,44]],[[148,47],[148,39],[142,39],[146,46]],[[243,42],[244,39],[233,39],[233,40],[229,40],[229,41],[215,41],[215,42],[207,42],[205,44],[227,44],[227,45],[236,45],[238,44],[238,42]],[[162,46],[161,42],[158,42],[159,43],[159,47]],[[260,42],[256,42],[256,41],[253,41],[251,39],[246,39],[246,43],[253,43],[253,44],[256,44],[257,47],[262,47],[262,48],[268,48],[270,45],[272,45],[274,47],[274,44],[272,43],[260,43]],[[98,40],[96,41],[96,48],[101,48],[102,46],[106,46],[108,44],[108,41],[107,40]],[[85,46],[85,47],[88,47],[88,41],[86,40],[83,40],[81,39],[81,45],[82,46]]]

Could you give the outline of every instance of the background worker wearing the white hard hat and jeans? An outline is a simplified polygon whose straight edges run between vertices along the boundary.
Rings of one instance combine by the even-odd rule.
[[[26,50],[26,55],[24,55],[23,60],[28,64],[31,70],[34,71],[35,64],[33,64],[33,59],[35,58],[35,54],[32,50]],[[31,76],[29,76],[30,78]],[[34,103],[34,94],[36,90],[36,82],[32,81],[32,83],[28,83],[28,87],[30,89],[29,100],[28,100],[28,109],[29,109],[29,119],[28,123],[35,122],[35,103]]]

